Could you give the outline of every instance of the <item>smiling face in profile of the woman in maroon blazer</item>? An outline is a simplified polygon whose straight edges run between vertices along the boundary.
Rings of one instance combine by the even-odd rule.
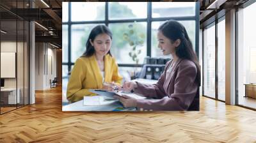
[[[157,32],[158,48],[162,50],[163,55],[175,54],[175,48],[179,46],[180,40],[175,42],[163,35],[162,31]]]

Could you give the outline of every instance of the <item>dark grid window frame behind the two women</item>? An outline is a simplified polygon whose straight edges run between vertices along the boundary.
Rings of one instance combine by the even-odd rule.
[[[161,22],[165,20],[193,20],[195,21],[195,52],[196,56],[199,56],[199,2],[189,2],[195,3],[195,15],[194,16],[186,16],[186,17],[158,17],[152,18],[152,2],[147,2],[147,18],[145,19],[122,19],[122,20],[109,20],[109,2],[105,3],[105,20],[93,20],[93,21],[79,21],[79,22],[72,22],[71,21],[71,3],[68,2],[68,21],[63,22],[62,25],[68,26],[68,62],[62,63],[63,65],[68,65],[68,72],[71,71],[71,66],[74,65],[71,62],[71,26],[74,24],[102,24],[104,23],[108,26],[110,23],[125,23],[125,22],[147,22],[147,55],[151,57],[151,26],[152,22]],[[118,63],[118,66],[125,66],[125,67],[136,67],[142,66],[143,64],[127,64],[127,63]],[[65,77],[63,77],[65,78]]]

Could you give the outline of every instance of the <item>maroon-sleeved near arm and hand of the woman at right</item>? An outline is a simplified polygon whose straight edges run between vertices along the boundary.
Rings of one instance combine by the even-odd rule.
[[[195,66],[180,67],[175,78],[174,93],[161,100],[138,100],[138,110],[188,110],[198,90]]]

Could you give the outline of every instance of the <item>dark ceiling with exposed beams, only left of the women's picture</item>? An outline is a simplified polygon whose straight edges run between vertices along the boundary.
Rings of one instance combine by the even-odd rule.
[[[16,33],[16,22],[12,22],[13,20],[17,18],[22,21],[35,20],[37,22],[35,24],[36,42],[51,42],[61,47],[62,1],[44,0],[44,2],[45,4],[40,0],[30,0],[30,3],[29,0],[1,0],[1,29],[8,31],[8,33],[4,34],[4,37],[10,39],[14,35],[18,34],[18,38],[22,35],[23,29],[21,28],[18,28]],[[32,6],[33,8],[31,8]],[[21,22],[18,22],[17,25],[19,26],[20,24]]]

